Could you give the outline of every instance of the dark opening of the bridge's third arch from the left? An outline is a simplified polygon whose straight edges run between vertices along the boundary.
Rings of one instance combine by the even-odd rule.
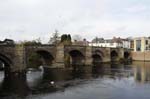
[[[85,62],[85,56],[82,54],[82,52],[78,50],[71,50],[69,52],[70,55],[70,64],[71,65],[83,65]]]

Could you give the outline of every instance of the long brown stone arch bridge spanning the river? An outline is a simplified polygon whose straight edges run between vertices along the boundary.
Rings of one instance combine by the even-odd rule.
[[[5,69],[22,71],[29,65],[29,57],[37,53],[42,57],[44,65],[66,68],[66,64],[91,65],[96,62],[118,61],[124,58],[124,53],[129,52],[123,48],[104,48],[90,46],[21,46],[0,45],[0,60],[5,64]]]

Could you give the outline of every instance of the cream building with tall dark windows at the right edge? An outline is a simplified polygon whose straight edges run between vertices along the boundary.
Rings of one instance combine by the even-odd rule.
[[[150,38],[138,37],[134,39],[134,51],[149,51],[150,50]]]

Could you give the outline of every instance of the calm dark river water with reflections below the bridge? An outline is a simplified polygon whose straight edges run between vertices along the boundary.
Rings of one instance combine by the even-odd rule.
[[[0,72],[0,99],[150,99],[150,62]]]

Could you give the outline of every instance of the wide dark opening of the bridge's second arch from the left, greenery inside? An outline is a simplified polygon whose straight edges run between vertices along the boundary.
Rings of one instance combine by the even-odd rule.
[[[46,50],[36,50],[29,56],[29,65],[34,65],[33,67],[38,67],[41,65],[51,66],[54,61],[53,55]],[[30,67],[30,66],[29,66]]]

